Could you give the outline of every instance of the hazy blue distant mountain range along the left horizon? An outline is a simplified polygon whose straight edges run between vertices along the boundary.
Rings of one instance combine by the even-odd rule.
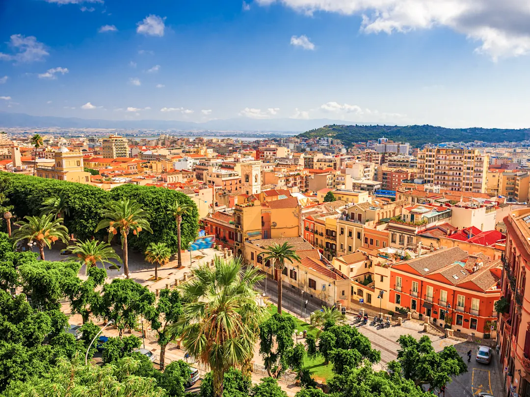
[[[24,113],[0,112],[0,128],[102,128],[178,131],[248,131],[248,132],[303,132],[325,124],[341,123],[328,119],[264,119],[236,118],[211,120],[204,123],[170,120],[95,120],[32,116]]]

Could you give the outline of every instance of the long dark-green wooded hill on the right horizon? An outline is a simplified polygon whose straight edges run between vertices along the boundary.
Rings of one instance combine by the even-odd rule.
[[[433,125],[324,125],[322,128],[299,134],[298,137],[333,137],[346,146],[381,137],[395,142],[409,142],[413,147],[440,142],[518,142],[530,139],[530,129],[508,130],[498,128],[444,128]]]

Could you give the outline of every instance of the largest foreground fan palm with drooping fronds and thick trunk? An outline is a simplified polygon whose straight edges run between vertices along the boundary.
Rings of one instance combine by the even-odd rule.
[[[254,355],[254,323],[265,309],[258,306],[253,285],[263,279],[257,268],[243,269],[241,258],[215,258],[215,266],[192,269],[181,284],[183,349],[213,372],[214,397],[223,395],[224,374]]]

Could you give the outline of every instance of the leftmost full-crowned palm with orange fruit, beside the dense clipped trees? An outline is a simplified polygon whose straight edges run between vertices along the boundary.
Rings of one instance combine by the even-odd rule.
[[[39,247],[40,258],[44,260],[44,247],[51,248],[57,240],[68,243],[68,229],[63,218],[54,219],[53,214],[41,216],[24,216],[25,221],[15,222],[20,228],[13,232],[15,244],[21,240],[33,240]]]

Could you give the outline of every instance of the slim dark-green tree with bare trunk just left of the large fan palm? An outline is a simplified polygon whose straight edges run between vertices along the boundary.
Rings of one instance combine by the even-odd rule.
[[[180,293],[167,289],[160,291],[160,297],[156,302],[155,310],[152,312],[149,321],[151,321],[151,328],[158,335],[157,342],[160,345],[161,371],[164,371],[167,344],[172,342],[182,331],[182,327],[175,326],[175,324],[178,324],[182,313]]]

